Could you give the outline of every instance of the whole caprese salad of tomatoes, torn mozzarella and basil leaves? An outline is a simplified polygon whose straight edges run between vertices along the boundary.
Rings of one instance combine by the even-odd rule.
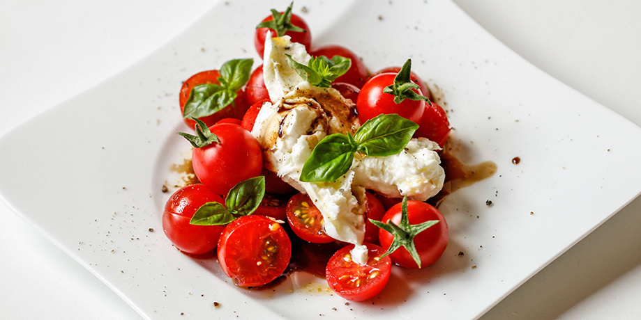
[[[182,85],[199,183],[167,201],[167,238],[215,254],[241,287],[313,260],[352,301],[376,296],[393,267],[436,262],[448,227],[425,200],[443,187],[451,128],[412,62],[370,74],[351,49],[314,47],[292,5],[254,43],[262,65],[235,58]]]

